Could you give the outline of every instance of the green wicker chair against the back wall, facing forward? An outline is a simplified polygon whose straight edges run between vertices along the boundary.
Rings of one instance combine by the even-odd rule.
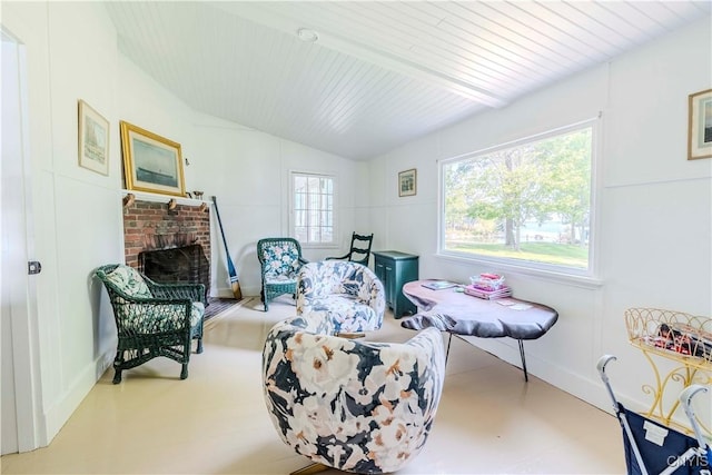
[[[265,238],[257,241],[257,259],[261,267],[263,288],[260,297],[265,311],[269,300],[283,294],[297,294],[297,274],[306,260],[301,257],[301,246],[294,238]]]

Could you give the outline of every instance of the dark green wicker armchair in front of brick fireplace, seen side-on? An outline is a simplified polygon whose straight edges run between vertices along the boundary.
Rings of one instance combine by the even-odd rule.
[[[165,356],[182,365],[180,379],[188,377],[191,343],[202,353],[205,286],[158,284],[122,264],[95,271],[109,294],[118,331],[113,384],[121,372]]]

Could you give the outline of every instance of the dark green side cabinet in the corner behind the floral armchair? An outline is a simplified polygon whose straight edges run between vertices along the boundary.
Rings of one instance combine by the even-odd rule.
[[[403,286],[418,279],[418,256],[397,250],[376,250],[376,277],[386,289],[386,305],[393,315],[400,318],[404,314],[415,314],[417,307],[403,295]]]

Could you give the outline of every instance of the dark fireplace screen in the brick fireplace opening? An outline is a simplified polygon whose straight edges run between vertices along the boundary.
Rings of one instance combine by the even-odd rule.
[[[139,269],[160,284],[202,284],[205,298],[210,289],[210,263],[202,246],[145,250],[138,255]]]

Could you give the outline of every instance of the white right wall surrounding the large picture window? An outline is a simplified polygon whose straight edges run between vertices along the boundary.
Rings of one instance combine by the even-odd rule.
[[[437,160],[602,112],[599,195],[600,287],[505,274],[515,296],[553,306],[558,323],[526,342],[531,373],[601,407],[610,406],[595,364],[633,407],[651,400],[644,357],[627,345],[623,311],[660,307],[712,315],[712,160],[686,160],[688,95],[712,87],[710,18],[610,65],[583,72],[393,150],[370,162],[376,249],[421,256],[421,276],[467,281],[488,268],[437,257]],[[415,197],[398,198],[398,171],[417,168]],[[491,270],[491,269],[490,269]],[[516,342],[472,339],[514,364]]]

